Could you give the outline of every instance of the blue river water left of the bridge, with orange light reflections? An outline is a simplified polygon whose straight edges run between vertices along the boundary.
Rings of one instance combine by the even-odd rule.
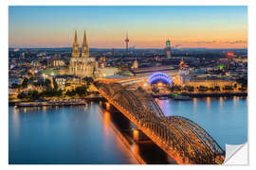
[[[110,130],[110,114],[88,107],[9,107],[9,163],[137,163]]]

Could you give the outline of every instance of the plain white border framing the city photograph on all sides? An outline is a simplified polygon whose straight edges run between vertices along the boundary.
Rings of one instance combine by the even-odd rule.
[[[1,110],[0,111],[0,125],[1,125],[1,143],[0,143],[0,162],[1,162],[1,169],[5,168],[18,168],[18,169],[70,169],[70,168],[76,168],[76,169],[92,169],[92,168],[109,168],[109,169],[131,169],[131,168],[142,168],[142,166],[137,165],[46,165],[46,166],[40,166],[40,165],[8,165],[8,153],[9,153],[9,147],[8,147],[8,6],[76,6],[76,5],[96,5],[96,6],[111,6],[111,5],[151,5],[151,6],[161,6],[161,5],[185,5],[185,6],[212,6],[212,5],[228,5],[228,6],[248,6],[248,58],[249,58],[249,68],[248,68],[248,79],[249,79],[249,115],[248,115],[248,124],[249,124],[249,131],[254,132],[253,127],[256,125],[256,109],[253,107],[255,106],[256,102],[256,93],[255,88],[256,87],[256,77],[253,75],[256,75],[256,53],[255,53],[255,45],[256,45],[256,26],[255,26],[255,20],[256,20],[256,8],[255,8],[255,0],[2,0],[1,6],[0,6],[0,17],[1,17],[1,31],[0,31],[0,69],[1,69],[1,88],[0,88],[0,94],[1,94]],[[254,103],[254,104],[253,104]],[[3,108],[3,109],[2,109]],[[252,127],[250,127],[252,126]],[[253,153],[256,153],[255,146],[256,143],[255,135],[253,133],[250,133],[248,136],[248,143],[249,143],[249,164],[250,166],[200,166],[200,165],[194,165],[194,166],[184,166],[184,165],[154,165],[154,166],[143,166],[147,168],[194,168],[194,169],[205,169],[205,168],[230,168],[230,169],[241,169],[241,168],[251,168],[255,166],[254,158],[252,157]],[[255,169],[255,167],[254,167]]]

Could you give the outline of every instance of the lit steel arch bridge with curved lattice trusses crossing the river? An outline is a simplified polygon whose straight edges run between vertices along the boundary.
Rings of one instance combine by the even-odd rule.
[[[182,116],[165,116],[155,99],[142,89],[128,91],[119,83],[98,84],[113,104],[177,163],[222,163],[225,151],[210,134]]]

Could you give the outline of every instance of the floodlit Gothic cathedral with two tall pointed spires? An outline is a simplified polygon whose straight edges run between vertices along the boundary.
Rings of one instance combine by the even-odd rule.
[[[99,64],[97,60],[89,55],[89,47],[86,41],[85,31],[82,42],[82,53],[80,53],[77,31],[75,32],[72,56],[69,61],[69,74],[81,77],[91,76],[93,78],[98,78],[100,76]]]

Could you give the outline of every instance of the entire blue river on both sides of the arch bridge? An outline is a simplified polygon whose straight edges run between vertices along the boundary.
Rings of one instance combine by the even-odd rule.
[[[247,142],[247,97],[157,102],[165,115],[191,119],[224,149],[225,144]],[[175,163],[151,144],[127,146],[112,121],[115,114],[95,102],[76,107],[9,107],[9,163]],[[122,124],[120,119],[116,122]]]

